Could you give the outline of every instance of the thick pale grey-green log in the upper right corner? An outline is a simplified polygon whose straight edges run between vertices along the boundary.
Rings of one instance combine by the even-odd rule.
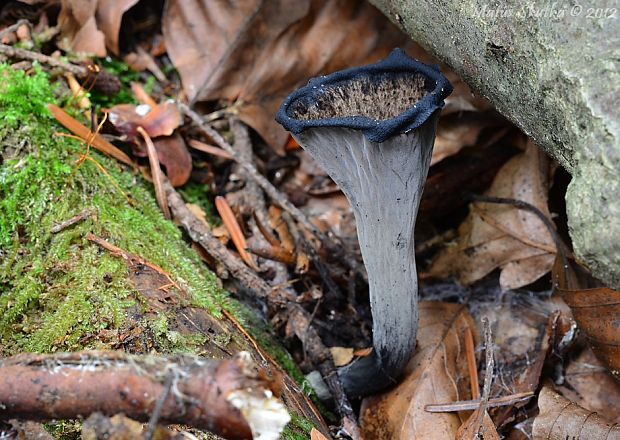
[[[371,2],[572,174],[576,254],[620,288],[617,2]]]

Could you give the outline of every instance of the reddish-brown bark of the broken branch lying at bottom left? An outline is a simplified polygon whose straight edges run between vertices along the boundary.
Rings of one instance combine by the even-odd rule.
[[[49,420],[122,412],[147,422],[168,377],[172,386],[161,422],[229,439],[252,438],[246,418],[229,400],[239,390],[265,397],[269,383],[252,372],[245,356],[217,361],[119,352],[18,355],[0,361],[2,417]]]

